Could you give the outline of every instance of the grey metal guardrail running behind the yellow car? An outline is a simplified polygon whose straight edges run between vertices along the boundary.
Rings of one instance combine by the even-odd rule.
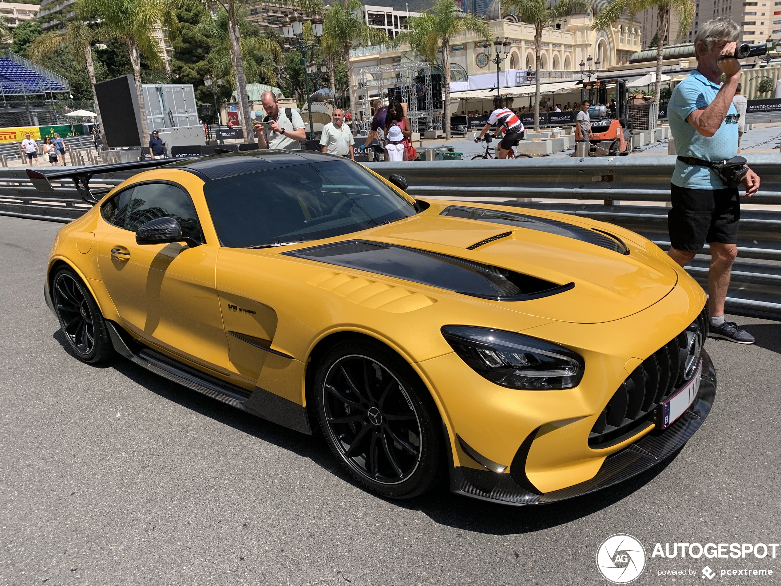
[[[747,155],[761,177],[761,191],[743,202],[781,205],[781,155]],[[590,157],[479,161],[366,163],[383,177],[403,175],[408,193],[423,197],[497,198],[518,205],[587,216],[615,223],[669,248],[667,212],[661,205],[620,205],[624,202],[668,202],[675,157]],[[95,176],[91,186],[111,188],[133,172]],[[52,182],[54,183],[54,182]],[[568,202],[519,202],[567,199]],[[77,195],[70,180],[55,184],[54,193],[36,191],[21,167],[0,169],[0,215],[70,222],[91,205]],[[708,259],[695,259],[686,270],[707,282]],[[738,259],[727,298],[732,311],[751,310],[776,319],[781,316],[781,211],[743,210]]]

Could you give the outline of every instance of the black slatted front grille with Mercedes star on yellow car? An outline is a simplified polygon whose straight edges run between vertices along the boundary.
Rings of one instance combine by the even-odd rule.
[[[708,312],[643,361],[623,381],[597,417],[588,438],[591,448],[608,448],[654,423],[654,411],[696,372],[708,337]]]

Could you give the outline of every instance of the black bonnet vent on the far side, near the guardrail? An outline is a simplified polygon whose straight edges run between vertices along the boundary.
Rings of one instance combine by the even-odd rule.
[[[622,255],[629,254],[629,248],[618,236],[614,236],[604,230],[584,228],[575,224],[541,218],[539,216],[527,216],[522,213],[504,212],[498,209],[469,208],[463,205],[450,205],[440,212],[440,216],[454,216],[481,222],[501,223],[505,226],[526,228],[526,230],[538,230],[548,234],[556,234],[565,238],[574,238],[581,242],[601,246]]]

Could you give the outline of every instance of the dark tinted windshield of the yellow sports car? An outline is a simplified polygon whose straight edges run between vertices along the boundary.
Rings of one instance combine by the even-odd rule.
[[[204,191],[219,241],[231,248],[330,238],[416,213],[372,173],[341,160],[226,177]]]

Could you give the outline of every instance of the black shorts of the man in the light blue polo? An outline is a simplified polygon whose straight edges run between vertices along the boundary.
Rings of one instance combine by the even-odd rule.
[[[705,242],[737,244],[740,201],[737,188],[690,189],[670,185],[667,215],[670,244],[681,252],[700,252]]]

